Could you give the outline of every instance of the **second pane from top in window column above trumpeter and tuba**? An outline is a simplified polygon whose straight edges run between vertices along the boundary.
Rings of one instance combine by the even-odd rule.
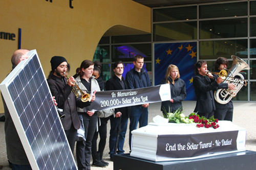
[[[247,37],[247,18],[200,21],[200,38]]]

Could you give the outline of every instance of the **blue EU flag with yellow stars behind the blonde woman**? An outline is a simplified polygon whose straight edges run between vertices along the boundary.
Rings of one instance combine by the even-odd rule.
[[[193,87],[194,69],[197,62],[197,42],[155,44],[155,85],[159,85],[170,64],[178,66],[180,78],[186,83],[186,99],[196,100]]]

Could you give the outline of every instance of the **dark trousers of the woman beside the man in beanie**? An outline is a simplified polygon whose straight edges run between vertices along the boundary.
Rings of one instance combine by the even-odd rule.
[[[77,141],[76,142],[76,160],[78,169],[91,169],[91,149],[92,149],[92,140],[94,132],[97,125],[97,114],[89,116],[87,113],[78,113],[82,115],[83,126],[84,126],[84,136],[86,141]]]

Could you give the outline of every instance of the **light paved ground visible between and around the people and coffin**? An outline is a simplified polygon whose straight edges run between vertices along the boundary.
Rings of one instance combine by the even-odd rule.
[[[185,115],[189,115],[193,112],[195,108],[195,101],[184,101],[183,107],[185,109]],[[233,123],[246,129],[246,150],[256,151],[256,103],[253,102],[233,102],[234,105],[234,113],[233,113]],[[149,107],[149,116],[148,122],[152,122],[153,117],[156,115],[161,115],[160,111],[160,103],[151,104]],[[108,124],[108,131],[109,131]],[[127,128],[126,139],[124,143],[125,153],[129,152],[129,143],[128,143],[128,132],[129,128]],[[109,139],[107,139],[107,144],[105,147],[103,158],[105,161],[109,162],[110,165],[104,168],[101,167],[93,167],[92,170],[96,169],[113,169],[113,162],[109,160]],[[8,162],[6,158],[6,145],[5,145],[5,134],[4,134],[4,123],[0,122],[0,165],[3,165],[5,170],[10,170],[8,167]]]

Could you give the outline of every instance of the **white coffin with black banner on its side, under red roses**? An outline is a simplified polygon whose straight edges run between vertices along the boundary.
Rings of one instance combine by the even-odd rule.
[[[156,124],[132,131],[131,156],[151,161],[196,159],[245,151],[246,130],[230,121],[219,128],[196,124]]]

